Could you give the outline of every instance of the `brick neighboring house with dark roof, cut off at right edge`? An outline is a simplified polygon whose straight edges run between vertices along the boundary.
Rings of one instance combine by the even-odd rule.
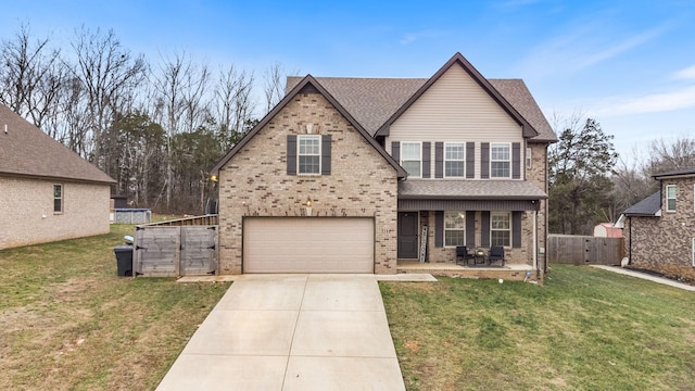
[[[654,175],[659,191],[626,210],[629,265],[695,279],[695,168]]]

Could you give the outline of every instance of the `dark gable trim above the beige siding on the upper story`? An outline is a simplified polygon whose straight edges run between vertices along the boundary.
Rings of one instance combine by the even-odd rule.
[[[437,80],[439,80],[452,66],[458,65],[468,73],[468,75],[495,101],[500,106],[511,116],[517,124],[521,125],[523,137],[535,137],[539,133],[533,129],[531,124],[511,106],[511,104],[484,78],[476,67],[472,66],[460,53],[454,54],[451,60],[444,64],[437,73],[427,80],[416,92],[402,105],[393,115],[377,130],[377,136],[388,136],[389,127],[415,103]]]

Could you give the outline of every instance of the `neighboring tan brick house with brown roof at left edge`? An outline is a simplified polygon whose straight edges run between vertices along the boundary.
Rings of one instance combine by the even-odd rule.
[[[0,104],[0,249],[108,234],[112,182]]]

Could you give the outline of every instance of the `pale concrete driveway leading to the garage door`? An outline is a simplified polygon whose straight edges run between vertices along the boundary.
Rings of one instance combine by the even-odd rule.
[[[157,390],[405,390],[374,275],[244,275]]]

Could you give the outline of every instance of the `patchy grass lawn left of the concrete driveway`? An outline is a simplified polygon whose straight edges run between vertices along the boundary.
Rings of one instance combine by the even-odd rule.
[[[229,283],[116,276],[110,235],[0,251],[0,390],[152,390]]]

